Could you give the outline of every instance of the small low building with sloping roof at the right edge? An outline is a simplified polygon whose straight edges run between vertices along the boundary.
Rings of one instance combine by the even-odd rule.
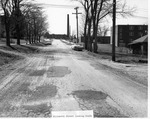
[[[148,55],[148,35],[134,40],[128,47],[133,50],[133,54]]]

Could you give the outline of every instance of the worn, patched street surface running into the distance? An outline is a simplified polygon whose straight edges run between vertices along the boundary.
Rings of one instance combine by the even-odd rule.
[[[50,117],[94,110],[95,117],[147,117],[147,86],[54,40],[0,82],[1,117]]]

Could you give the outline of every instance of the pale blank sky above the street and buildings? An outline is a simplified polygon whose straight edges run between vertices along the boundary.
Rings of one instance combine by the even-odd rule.
[[[73,0],[36,0],[44,5],[44,11],[49,23],[49,32],[52,34],[67,33],[67,14],[70,18],[71,34],[76,34],[76,16],[74,8],[79,6],[79,12],[83,13],[83,8],[78,2]],[[125,1],[125,0],[122,0]],[[122,18],[117,17],[116,24],[148,24],[148,0],[126,0],[129,7],[136,7],[135,17]],[[79,31],[82,29],[82,15],[79,15]],[[108,19],[106,23],[112,26],[112,20]],[[80,33],[79,33],[80,34]]]

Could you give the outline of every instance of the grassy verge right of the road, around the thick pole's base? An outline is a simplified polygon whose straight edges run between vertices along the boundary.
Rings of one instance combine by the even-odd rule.
[[[128,48],[116,47],[116,62],[125,64],[148,63],[148,56],[131,54]],[[98,44],[98,53],[88,52],[88,54],[100,59],[112,60],[112,46],[110,44]]]

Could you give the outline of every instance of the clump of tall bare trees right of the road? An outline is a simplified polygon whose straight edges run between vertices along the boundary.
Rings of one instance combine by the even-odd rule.
[[[84,41],[88,50],[92,50],[92,42],[94,41],[94,52],[97,52],[97,33],[100,21],[107,15],[112,14],[112,0],[75,0],[79,1],[85,11]],[[125,3],[117,0],[117,13],[123,17],[132,16],[134,8],[129,8]],[[91,36],[92,33],[92,36]],[[86,45],[87,44],[87,45]]]

